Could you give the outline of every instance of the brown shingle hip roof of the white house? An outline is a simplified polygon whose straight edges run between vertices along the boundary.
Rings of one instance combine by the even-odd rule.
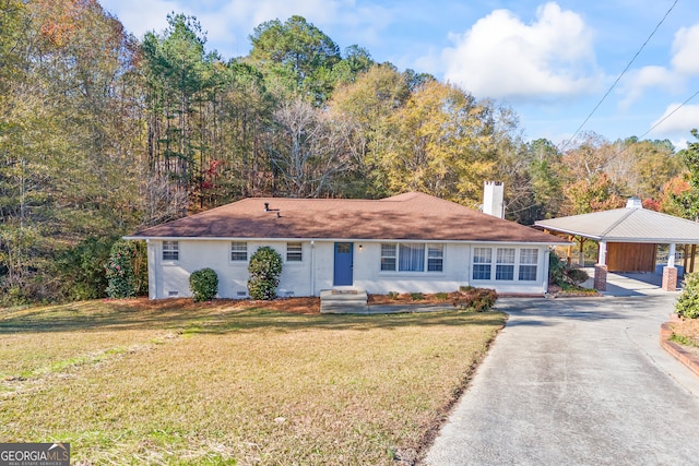
[[[265,203],[271,212],[265,212]],[[377,201],[250,198],[146,228],[129,238],[565,242],[553,235],[419,192]]]

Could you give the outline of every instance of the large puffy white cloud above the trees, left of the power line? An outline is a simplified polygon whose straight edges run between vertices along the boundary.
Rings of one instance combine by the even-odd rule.
[[[550,2],[524,24],[495,10],[470,31],[452,35],[441,53],[445,77],[479,97],[552,98],[594,92],[593,34],[582,17]]]

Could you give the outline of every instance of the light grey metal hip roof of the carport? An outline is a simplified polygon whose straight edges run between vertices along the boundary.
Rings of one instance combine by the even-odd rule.
[[[626,208],[540,220],[540,228],[606,242],[698,244],[699,223],[629,202]]]

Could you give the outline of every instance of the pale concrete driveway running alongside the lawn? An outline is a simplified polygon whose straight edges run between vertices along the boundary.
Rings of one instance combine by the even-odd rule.
[[[510,320],[425,463],[699,464],[699,379],[659,344],[676,297],[498,300]]]

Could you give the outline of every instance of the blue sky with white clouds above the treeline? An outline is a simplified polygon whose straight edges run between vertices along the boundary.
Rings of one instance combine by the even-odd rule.
[[[668,139],[699,128],[699,9],[689,0],[100,0],[137,37],[169,12],[194,15],[209,49],[248,53],[258,24],[306,17],[340,47],[429,72],[511,107],[528,140],[560,144],[583,123],[670,13],[582,131],[608,140]],[[650,131],[650,132],[649,132]]]

